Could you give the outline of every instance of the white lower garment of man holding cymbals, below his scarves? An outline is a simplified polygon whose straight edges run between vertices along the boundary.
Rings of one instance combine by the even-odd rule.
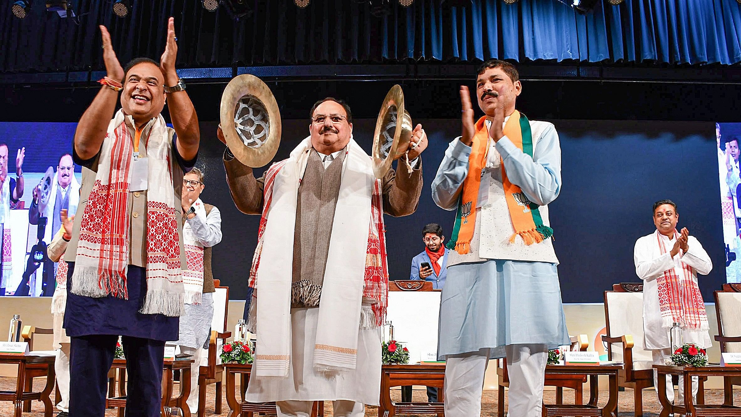
[[[339,312],[338,312],[339,314]],[[364,404],[379,405],[381,386],[381,330],[379,327],[359,330],[358,356],[354,370],[318,371],[313,367],[316,323],[319,308],[290,310],[291,354],[288,376],[256,377],[250,374],[245,400],[250,402],[284,401],[279,404],[280,416],[304,416],[312,401],[347,400],[360,403],[350,407],[339,401],[336,406],[346,409],[342,416],[362,416]],[[260,341],[256,352],[259,353]],[[295,401],[308,401],[296,404]],[[350,410],[350,411],[347,411]],[[359,410],[359,414],[356,414]],[[282,414],[281,414],[282,413]],[[335,414],[338,416],[338,414]]]

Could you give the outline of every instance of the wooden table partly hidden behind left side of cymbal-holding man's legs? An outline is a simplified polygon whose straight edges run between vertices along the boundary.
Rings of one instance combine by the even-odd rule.
[[[229,404],[228,417],[253,417],[253,413],[278,413],[276,410],[276,403],[273,401],[259,403],[245,401],[245,391],[247,390],[247,384],[249,384],[250,381],[251,372],[252,364],[224,364],[224,373],[226,374],[225,378],[227,380],[227,404]],[[240,377],[239,393],[242,397],[241,401],[236,399],[237,375]],[[314,401],[313,408],[311,409],[311,416],[324,416],[324,401]]]

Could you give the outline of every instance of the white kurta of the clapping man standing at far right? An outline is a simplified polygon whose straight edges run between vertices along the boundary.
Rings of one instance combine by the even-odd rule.
[[[664,241],[668,251],[674,247],[674,237],[668,238],[659,235]],[[656,234],[651,233],[636,241],[634,249],[634,261],[636,273],[643,280],[643,333],[645,335],[644,346],[648,350],[667,349],[669,345],[669,329],[662,327],[661,313],[659,312],[659,287],[657,278],[664,271],[674,268],[677,276],[682,276],[680,261],[693,268],[692,279],[697,284],[697,274],[708,275],[713,269],[710,256],[702,248],[700,241],[694,236],[689,236],[689,250],[682,254],[680,250],[677,256],[671,258],[667,252],[662,254],[659,248]],[[702,349],[711,347],[712,341],[708,330],[682,330],[682,341],[694,343]]]

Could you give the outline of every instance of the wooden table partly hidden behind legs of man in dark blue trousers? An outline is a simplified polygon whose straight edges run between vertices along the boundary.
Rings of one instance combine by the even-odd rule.
[[[190,395],[190,364],[193,359],[179,361],[165,361],[162,364],[162,416],[170,417],[170,408],[182,410],[182,417],[190,417],[190,408],[187,407],[187,397]],[[126,359],[113,359],[111,369],[119,370],[119,396],[106,399],[106,407],[118,407],[119,417],[124,417],[126,407]],[[180,394],[173,396],[173,370],[180,370]],[[109,394],[110,395],[110,394]],[[114,394],[115,395],[115,394]]]

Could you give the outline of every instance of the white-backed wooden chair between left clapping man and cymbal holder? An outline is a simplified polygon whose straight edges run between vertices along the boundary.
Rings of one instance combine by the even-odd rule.
[[[208,354],[201,362],[198,376],[198,417],[206,415],[206,389],[216,384],[216,414],[222,413],[222,376],[224,365],[219,354],[226,339],[231,337],[227,332],[227,315],[229,313],[229,287],[221,287],[218,279],[213,280],[216,292],[213,293],[213,319],[211,320],[211,337],[208,341]]]

